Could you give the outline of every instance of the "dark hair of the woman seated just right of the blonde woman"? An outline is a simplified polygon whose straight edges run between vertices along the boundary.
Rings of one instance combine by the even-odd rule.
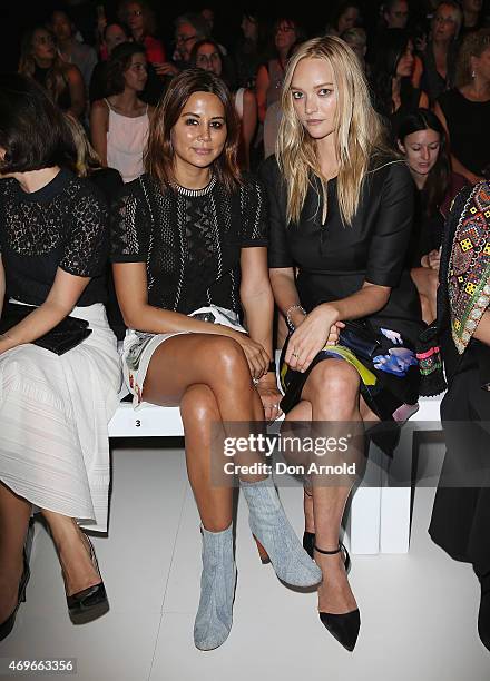
[[[393,29],[392,29],[393,30]],[[443,203],[451,179],[451,160],[448,151],[445,130],[439,118],[429,109],[416,109],[402,120],[398,141],[404,146],[408,135],[420,130],[439,134],[439,155],[422,189],[422,206],[427,215],[433,215]]]

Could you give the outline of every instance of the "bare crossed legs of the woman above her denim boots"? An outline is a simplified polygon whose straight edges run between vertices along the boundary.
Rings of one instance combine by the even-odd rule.
[[[213,484],[212,463],[215,473],[219,466],[212,462],[212,437],[225,434],[226,422],[243,422],[248,433],[251,423],[264,421],[242,348],[218,335],[169,338],[150,361],[143,397],[153,404],[180,405],[187,471],[203,525],[209,532],[225,530],[232,522],[232,490],[229,478],[227,486]],[[236,428],[232,434],[237,435]]]

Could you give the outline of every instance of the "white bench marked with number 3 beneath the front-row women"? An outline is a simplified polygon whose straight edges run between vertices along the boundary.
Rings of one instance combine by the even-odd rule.
[[[352,553],[406,553],[410,544],[410,520],[413,485],[390,486],[389,477],[412,480],[413,434],[421,430],[440,430],[442,396],[421,397],[420,409],[402,428],[399,453],[390,470],[381,465],[382,454],[371,445],[366,473],[379,486],[360,486],[352,496],[350,545]],[[135,412],[121,402],[109,424],[109,437],[184,436],[178,407],[146,406]]]

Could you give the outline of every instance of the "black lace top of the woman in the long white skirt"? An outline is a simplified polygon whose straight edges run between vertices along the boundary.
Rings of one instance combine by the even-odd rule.
[[[91,277],[77,305],[106,299],[108,213],[89,180],[60,170],[38,191],[14,179],[0,180],[0,251],[8,295],[41,305],[58,267]]]

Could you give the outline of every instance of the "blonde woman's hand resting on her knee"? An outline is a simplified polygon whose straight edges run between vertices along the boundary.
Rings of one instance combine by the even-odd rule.
[[[286,364],[296,372],[305,372],[325,345],[339,342],[339,334],[344,326],[334,307],[318,305],[292,334],[285,356]]]

